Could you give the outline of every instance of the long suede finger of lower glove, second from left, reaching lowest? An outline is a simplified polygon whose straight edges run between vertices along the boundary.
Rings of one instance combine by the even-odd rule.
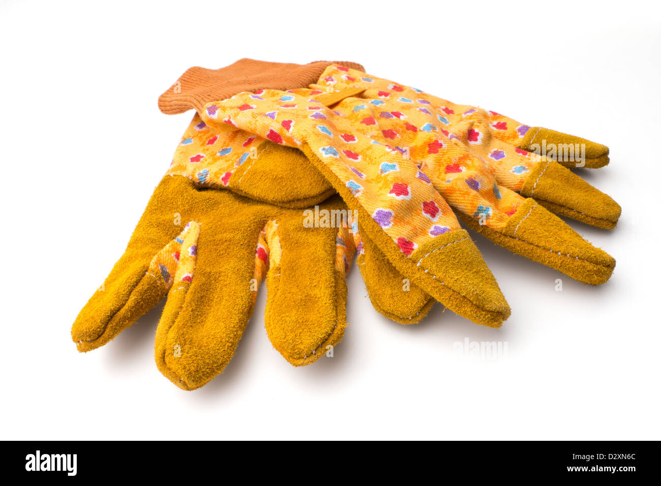
[[[229,191],[200,194],[194,275],[173,285],[155,340],[159,370],[184,390],[212,380],[234,355],[253,312],[256,261],[266,260],[259,235],[272,211]]]

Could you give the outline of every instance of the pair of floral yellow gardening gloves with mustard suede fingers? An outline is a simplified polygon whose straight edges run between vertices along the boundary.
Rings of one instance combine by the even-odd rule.
[[[607,164],[598,143],[355,63],[192,68],[159,106],[196,114],[71,335],[95,349],[167,296],[155,359],[184,390],[229,363],[263,279],[274,347],[295,366],[325,355],[346,328],[354,254],[384,316],[412,324],[438,301],[500,327],[510,307],[459,220],[584,283],[615,267],[557,216],[617,223],[619,205],[568,168]]]

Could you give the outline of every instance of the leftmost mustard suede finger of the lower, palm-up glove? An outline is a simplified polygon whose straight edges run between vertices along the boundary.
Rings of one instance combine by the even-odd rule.
[[[190,197],[175,191],[173,182],[161,180],[126,251],[78,314],[71,337],[79,351],[104,345],[167,294],[180,244],[174,238],[182,233],[180,222],[192,215]]]

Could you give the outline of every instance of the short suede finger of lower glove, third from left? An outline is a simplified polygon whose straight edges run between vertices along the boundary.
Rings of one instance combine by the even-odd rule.
[[[284,211],[267,225],[266,240],[266,332],[292,365],[309,365],[339,343],[346,328],[345,275],[354,257],[346,207],[335,196],[314,210]]]

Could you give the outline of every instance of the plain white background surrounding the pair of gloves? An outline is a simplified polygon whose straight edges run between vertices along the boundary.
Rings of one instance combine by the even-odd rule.
[[[551,7],[549,7],[551,6]],[[3,1],[2,438],[660,437],[658,3]],[[349,59],[368,73],[609,145],[585,178],[617,228],[570,221],[617,267],[601,287],[477,245],[512,306],[501,330],[440,304],[416,326],[348,278],[350,327],[294,368],[264,331],[264,288],[225,372],[184,392],[153,363],[162,307],[79,354],[69,330],[165,173],[191,114],[157,97],[240,57]],[[563,291],[555,281],[563,279]],[[498,360],[455,343],[506,341]]]

